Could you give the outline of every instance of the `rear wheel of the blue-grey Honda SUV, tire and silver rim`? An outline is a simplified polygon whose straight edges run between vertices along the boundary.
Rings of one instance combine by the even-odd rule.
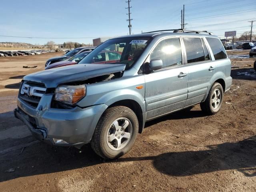
[[[222,106],[223,96],[224,92],[221,84],[215,82],[206,100],[200,103],[201,110],[209,115],[216,114]]]

